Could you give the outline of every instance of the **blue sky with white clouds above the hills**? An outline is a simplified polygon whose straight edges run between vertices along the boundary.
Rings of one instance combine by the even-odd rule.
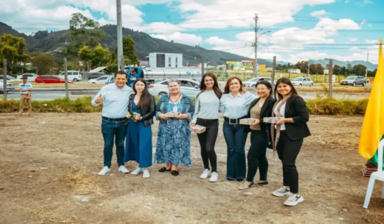
[[[81,12],[101,24],[116,24],[116,5],[104,0],[14,1],[0,20],[31,33],[68,27]],[[295,63],[334,58],[377,62],[384,34],[381,0],[122,0],[123,26],[154,38],[254,57],[254,14],[258,13],[258,58]]]

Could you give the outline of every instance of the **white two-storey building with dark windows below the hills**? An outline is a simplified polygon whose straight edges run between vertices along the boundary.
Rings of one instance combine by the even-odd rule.
[[[181,68],[183,67],[183,54],[150,53],[149,66],[152,68]]]

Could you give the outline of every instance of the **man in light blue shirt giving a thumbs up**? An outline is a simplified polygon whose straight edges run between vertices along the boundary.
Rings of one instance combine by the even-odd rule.
[[[98,175],[110,172],[112,160],[113,139],[116,143],[116,156],[119,171],[129,173],[124,166],[124,140],[126,137],[126,117],[129,96],[132,89],[126,85],[127,73],[118,71],[114,74],[114,83],[101,87],[100,91],[92,100],[93,106],[103,104],[101,111],[101,133],[104,138],[104,167]]]

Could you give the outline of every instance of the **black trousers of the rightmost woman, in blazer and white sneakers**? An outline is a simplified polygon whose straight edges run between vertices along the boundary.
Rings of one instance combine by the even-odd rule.
[[[283,163],[283,184],[289,186],[293,194],[299,192],[299,174],[296,169],[296,158],[300,152],[303,139],[291,140],[286,131],[280,131],[280,140],[276,150]]]

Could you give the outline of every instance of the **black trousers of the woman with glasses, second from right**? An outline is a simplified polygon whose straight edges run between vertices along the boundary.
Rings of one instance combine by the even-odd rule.
[[[249,147],[247,161],[247,181],[252,182],[259,169],[260,180],[266,180],[268,172],[268,160],[266,159],[266,147],[268,145],[265,131],[251,132],[251,146]]]

